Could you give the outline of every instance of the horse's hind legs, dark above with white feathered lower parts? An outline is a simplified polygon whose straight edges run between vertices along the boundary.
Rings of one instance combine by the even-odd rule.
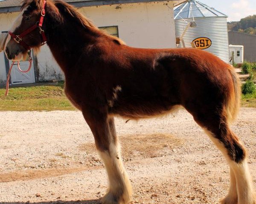
[[[256,204],[253,183],[247,167],[246,150],[239,138],[230,130],[225,113],[192,113],[212,142],[224,154],[230,167],[230,190],[221,204]],[[224,111],[223,111],[224,112]]]

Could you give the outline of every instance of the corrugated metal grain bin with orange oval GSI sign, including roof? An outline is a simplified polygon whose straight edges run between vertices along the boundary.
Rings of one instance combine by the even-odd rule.
[[[227,15],[199,1],[189,0],[175,8],[174,19],[177,38],[182,36],[189,22],[196,23],[196,27],[189,27],[183,37],[186,47],[192,47],[194,41],[197,48],[229,62]],[[178,47],[183,47],[182,43]]]

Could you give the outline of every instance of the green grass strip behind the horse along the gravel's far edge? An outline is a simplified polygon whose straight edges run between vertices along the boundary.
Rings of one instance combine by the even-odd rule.
[[[4,96],[5,88],[0,89],[0,111],[73,111],[64,94],[64,82],[58,85],[10,88],[8,96]],[[243,95],[242,107],[256,108],[256,93]]]

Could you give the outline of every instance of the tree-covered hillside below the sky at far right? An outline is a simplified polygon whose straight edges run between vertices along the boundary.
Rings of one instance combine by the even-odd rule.
[[[228,30],[256,35],[256,15],[242,18],[240,21],[227,23]]]

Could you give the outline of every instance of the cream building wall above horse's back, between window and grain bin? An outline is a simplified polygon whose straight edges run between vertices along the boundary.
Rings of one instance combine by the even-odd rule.
[[[118,26],[127,45],[141,48],[176,47],[172,3],[136,3],[83,7],[79,11],[96,26]]]

